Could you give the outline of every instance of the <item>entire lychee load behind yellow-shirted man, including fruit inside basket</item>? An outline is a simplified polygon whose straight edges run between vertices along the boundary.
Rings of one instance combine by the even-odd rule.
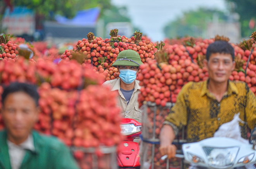
[[[169,113],[163,109],[166,109],[167,104],[176,102],[182,86],[190,81],[199,82],[208,79],[208,70],[204,67],[203,60],[206,58],[208,45],[215,40],[228,41],[229,39],[224,36],[216,36],[209,40],[197,40],[191,37],[184,40],[184,45],[166,45],[164,48],[165,44],[160,42],[157,44],[159,51],[155,54],[156,60],[147,59],[140,66],[141,73],[138,74],[138,79],[142,88],[138,98],[139,104],[141,106],[145,101],[156,104],[155,109],[150,106],[144,109],[147,116],[144,116],[142,126],[148,131],[148,136],[154,135],[158,138],[163,121]],[[254,93],[256,92],[256,53],[253,52],[256,50],[253,44],[255,41],[256,32],[252,34],[251,39],[237,45],[232,44],[235,49],[236,69],[229,78],[245,81]],[[156,129],[153,128],[154,126]],[[159,159],[159,151],[156,149],[154,151],[155,156],[151,160],[154,160],[159,168],[166,168],[166,162],[161,162]],[[149,154],[151,153],[150,149]]]

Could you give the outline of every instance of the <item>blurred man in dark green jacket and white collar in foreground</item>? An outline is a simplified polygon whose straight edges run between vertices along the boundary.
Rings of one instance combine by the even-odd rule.
[[[38,100],[36,87],[26,83],[12,83],[3,91],[0,169],[78,169],[63,143],[33,130]]]

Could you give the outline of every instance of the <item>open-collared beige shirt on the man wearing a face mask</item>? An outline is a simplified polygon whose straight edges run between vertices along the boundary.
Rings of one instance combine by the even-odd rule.
[[[121,116],[123,118],[131,118],[135,119],[138,122],[141,122],[142,120],[142,111],[139,109],[139,104],[138,104],[138,94],[140,93],[140,81],[135,80],[135,85],[134,85],[134,91],[131,95],[131,99],[127,105],[127,101],[125,100],[125,97],[123,93],[120,90],[120,81],[121,79],[114,79],[110,81],[106,81],[103,83],[102,86],[109,86],[112,91],[117,90],[119,95],[118,95],[118,103],[117,105],[122,109],[121,111]]]

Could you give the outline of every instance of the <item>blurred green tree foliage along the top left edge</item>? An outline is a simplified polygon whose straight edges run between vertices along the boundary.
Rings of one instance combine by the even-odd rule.
[[[7,2],[10,2],[10,5],[33,9],[43,20],[54,20],[55,14],[73,18],[79,10],[99,7],[101,9],[99,19],[104,21],[105,26],[114,21],[131,21],[125,14],[126,8],[112,5],[111,0],[0,0],[0,21]],[[2,8],[3,10],[1,10]]]

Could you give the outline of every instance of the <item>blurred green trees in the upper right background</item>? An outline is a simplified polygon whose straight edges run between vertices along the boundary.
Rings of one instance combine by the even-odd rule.
[[[198,9],[184,12],[182,17],[177,17],[164,27],[164,34],[167,38],[174,38],[173,35],[182,36],[204,36],[207,23],[218,18],[218,21],[230,21],[231,15],[239,14],[241,24],[241,36],[249,37],[255,31],[256,21],[256,0],[225,0],[227,13],[219,10]],[[249,28],[249,22],[253,20],[254,28]]]

